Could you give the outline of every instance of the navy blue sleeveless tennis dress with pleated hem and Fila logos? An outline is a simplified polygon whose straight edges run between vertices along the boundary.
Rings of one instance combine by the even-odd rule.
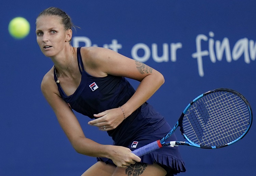
[[[62,98],[73,110],[92,119],[95,118],[93,114],[124,105],[135,92],[131,84],[124,77],[108,75],[99,78],[86,73],[80,49],[77,48],[77,61],[82,75],[81,83],[70,96],[67,96],[57,83]],[[54,79],[57,81],[55,69]],[[163,116],[145,102],[119,126],[107,132],[114,141],[113,145],[128,147],[133,151],[161,139],[170,130]],[[169,140],[175,141],[175,135],[173,134]],[[156,162],[167,171],[167,176],[186,171],[178,147],[162,147],[140,158],[143,163]],[[108,158],[97,158],[97,160],[114,164]]]

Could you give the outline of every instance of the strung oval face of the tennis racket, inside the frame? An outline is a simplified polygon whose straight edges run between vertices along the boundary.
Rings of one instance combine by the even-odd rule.
[[[214,92],[193,103],[183,118],[183,130],[194,143],[225,145],[238,139],[250,123],[246,103],[230,92]]]

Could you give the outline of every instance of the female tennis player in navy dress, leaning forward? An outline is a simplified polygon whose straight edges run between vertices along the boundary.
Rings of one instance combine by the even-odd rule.
[[[163,84],[155,69],[100,47],[74,48],[70,17],[50,7],[36,20],[38,45],[54,66],[42,80],[43,95],[74,149],[98,162],[82,176],[171,176],[185,172],[178,147],[163,147],[138,157],[132,150],[154,142],[171,128],[146,101]],[[140,81],[135,91],[125,79]],[[108,132],[113,145],[85,137],[73,110]],[[175,141],[173,134],[170,141]]]

